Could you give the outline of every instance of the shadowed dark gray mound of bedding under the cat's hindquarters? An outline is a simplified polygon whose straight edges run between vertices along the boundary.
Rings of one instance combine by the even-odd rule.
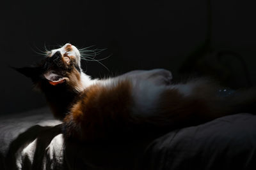
[[[256,169],[256,115],[172,131],[147,148],[141,169]]]

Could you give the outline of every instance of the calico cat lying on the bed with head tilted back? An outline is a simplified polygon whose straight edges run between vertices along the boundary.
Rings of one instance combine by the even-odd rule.
[[[81,53],[70,43],[51,50],[34,66],[15,69],[45,94],[54,117],[63,120],[65,136],[80,141],[154,129],[171,131],[255,112],[255,89],[223,97],[218,95],[221,87],[209,78],[172,83],[172,73],[165,69],[92,79],[81,68]]]

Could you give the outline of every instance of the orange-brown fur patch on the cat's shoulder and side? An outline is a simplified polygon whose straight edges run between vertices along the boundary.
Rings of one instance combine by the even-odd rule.
[[[122,131],[129,124],[131,83],[120,81],[112,87],[93,85],[84,90],[64,122],[70,136],[79,134],[87,141]],[[76,136],[77,137],[77,136]]]

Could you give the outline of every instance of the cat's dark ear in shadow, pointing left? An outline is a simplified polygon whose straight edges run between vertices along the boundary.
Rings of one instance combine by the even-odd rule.
[[[12,67],[12,69],[18,71],[21,74],[24,74],[24,76],[27,76],[29,78],[36,78],[40,76],[40,68],[36,66]]]

